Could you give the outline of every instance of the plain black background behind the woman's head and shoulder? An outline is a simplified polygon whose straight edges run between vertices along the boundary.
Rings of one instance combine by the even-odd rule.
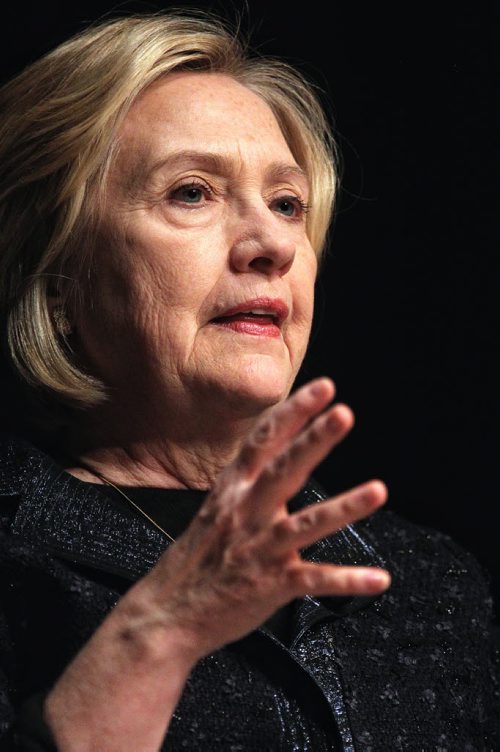
[[[392,509],[471,550],[500,599],[498,4],[189,5],[240,16],[333,103],[343,188],[302,378],[331,375],[357,424],[317,477],[383,478]],[[105,14],[163,7],[12,4],[2,78]]]

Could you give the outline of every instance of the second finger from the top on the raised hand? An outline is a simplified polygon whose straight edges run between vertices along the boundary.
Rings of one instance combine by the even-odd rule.
[[[290,446],[267,463],[251,492],[251,511],[269,513],[302,488],[314,468],[346,436],[354,424],[347,405],[334,405],[296,436]]]

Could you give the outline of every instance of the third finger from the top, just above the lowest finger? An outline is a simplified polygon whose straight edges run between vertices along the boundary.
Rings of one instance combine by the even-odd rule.
[[[387,501],[387,488],[374,480],[352,489],[334,499],[311,504],[295,514],[275,522],[271,531],[269,550],[281,556],[286,551],[310,546],[346,525],[372,514]]]

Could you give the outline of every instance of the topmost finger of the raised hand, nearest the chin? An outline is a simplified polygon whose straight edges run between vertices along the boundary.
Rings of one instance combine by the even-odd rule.
[[[244,442],[236,470],[248,478],[255,477],[303,427],[333,399],[335,386],[330,379],[311,381],[289,399],[272,408],[261,418]]]

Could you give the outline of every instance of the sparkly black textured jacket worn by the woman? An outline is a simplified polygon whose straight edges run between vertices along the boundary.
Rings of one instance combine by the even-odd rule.
[[[322,498],[309,484],[292,504]],[[54,749],[43,694],[166,545],[47,455],[0,442],[0,750]],[[393,585],[376,600],[299,600],[287,644],[264,627],[201,661],[163,749],[498,752],[498,660],[474,559],[386,511],[305,556],[384,562]]]

